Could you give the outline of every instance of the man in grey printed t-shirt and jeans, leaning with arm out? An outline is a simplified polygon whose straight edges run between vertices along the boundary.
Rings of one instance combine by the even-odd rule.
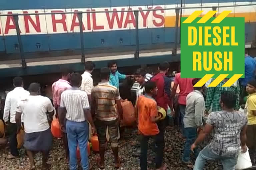
[[[220,160],[224,170],[233,170],[237,163],[239,147],[247,151],[246,128],[247,117],[240,111],[235,111],[236,94],[224,91],[221,94],[222,111],[212,112],[206,121],[206,126],[192,144],[191,150],[214,130],[212,141],[200,151],[194,165],[194,170],[202,170],[206,160]]]

